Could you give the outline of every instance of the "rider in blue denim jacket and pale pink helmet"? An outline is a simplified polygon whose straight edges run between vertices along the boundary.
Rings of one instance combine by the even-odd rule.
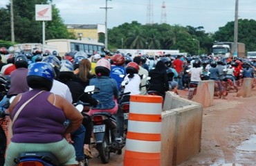
[[[116,115],[118,122],[117,141],[122,141],[124,133],[124,114],[118,106],[118,85],[116,80],[109,77],[111,64],[107,59],[100,59],[95,66],[96,77],[90,80],[90,85],[100,89],[99,93],[93,93],[92,97],[98,100],[96,107],[91,107],[89,116],[96,112],[109,112]],[[115,132],[115,131],[114,131]]]

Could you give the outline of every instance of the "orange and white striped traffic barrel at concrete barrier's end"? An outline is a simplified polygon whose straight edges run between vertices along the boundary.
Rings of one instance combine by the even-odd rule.
[[[131,95],[125,146],[125,166],[161,165],[163,98]]]

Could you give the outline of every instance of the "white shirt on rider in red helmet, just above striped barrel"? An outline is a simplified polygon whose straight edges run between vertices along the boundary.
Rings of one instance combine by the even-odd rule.
[[[129,74],[127,74],[124,79],[128,81],[128,84],[125,85],[124,93],[131,92],[130,95],[140,94],[140,76],[138,74],[134,74],[134,77],[129,78],[128,75]]]

